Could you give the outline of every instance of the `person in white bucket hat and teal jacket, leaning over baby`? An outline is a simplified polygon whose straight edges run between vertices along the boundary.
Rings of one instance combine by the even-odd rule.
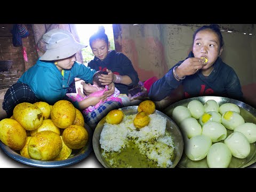
[[[69,85],[74,78],[81,78],[92,83],[96,72],[82,63],[78,63],[75,54],[87,45],[78,43],[74,36],[64,29],[52,29],[43,35],[46,52],[12,85],[4,96],[3,109],[7,118],[13,115],[13,109],[21,102],[35,103],[45,101],[50,105],[65,99]],[[87,105],[96,105],[114,93],[114,83],[101,97],[90,97]],[[74,103],[75,107],[76,103]]]

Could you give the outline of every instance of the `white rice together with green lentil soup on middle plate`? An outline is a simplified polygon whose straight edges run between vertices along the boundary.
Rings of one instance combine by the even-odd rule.
[[[174,146],[166,118],[150,114],[147,126],[137,129],[135,115],[125,115],[117,125],[105,123],[100,135],[101,154],[111,167],[169,167]]]

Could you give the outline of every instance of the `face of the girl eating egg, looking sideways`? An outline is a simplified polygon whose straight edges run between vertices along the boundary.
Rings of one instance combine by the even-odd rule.
[[[207,64],[202,69],[210,68],[221,54],[222,48],[217,34],[212,30],[199,31],[194,40],[193,53],[195,58],[205,57]]]

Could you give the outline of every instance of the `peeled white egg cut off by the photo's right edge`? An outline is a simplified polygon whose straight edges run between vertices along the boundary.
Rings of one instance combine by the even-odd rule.
[[[234,132],[238,131],[245,135],[249,143],[256,141],[256,125],[254,123],[244,123],[235,127]]]

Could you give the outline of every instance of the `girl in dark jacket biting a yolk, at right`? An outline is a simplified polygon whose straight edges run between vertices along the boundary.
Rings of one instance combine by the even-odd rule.
[[[238,76],[219,57],[222,46],[218,25],[198,28],[193,36],[193,51],[150,87],[150,99],[160,101],[182,84],[185,98],[213,95],[242,101]]]

